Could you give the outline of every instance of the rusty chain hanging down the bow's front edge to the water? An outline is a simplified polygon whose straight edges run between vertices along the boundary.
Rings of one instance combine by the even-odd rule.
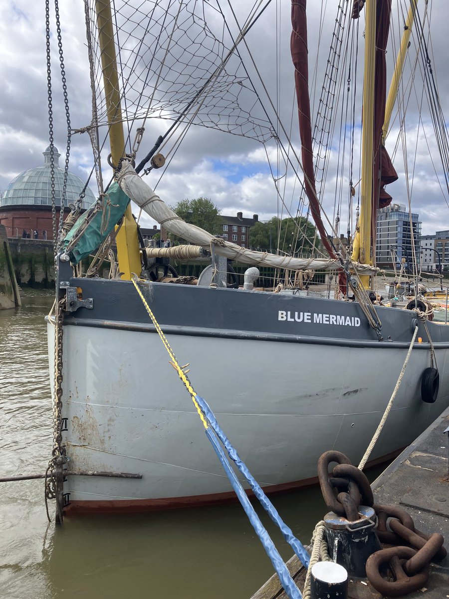
[[[62,337],[63,311],[66,298],[54,304],[54,401],[53,401],[53,449],[45,472],[45,509],[48,522],[48,500],[56,498],[57,522],[62,524],[62,466],[67,461],[66,447],[62,444]]]

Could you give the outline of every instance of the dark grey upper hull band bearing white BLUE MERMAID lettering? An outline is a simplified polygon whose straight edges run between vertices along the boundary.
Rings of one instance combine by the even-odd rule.
[[[150,317],[131,282],[74,279],[69,285],[92,298],[92,309],[69,313],[65,325],[154,331]],[[350,346],[408,346],[416,314],[399,308],[377,307],[383,341],[355,302],[274,294],[242,289],[211,289],[169,283],[141,283],[157,322],[171,334],[252,338],[293,343]],[[423,323],[418,322],[418,349],[429,349]],[[436,347],[449,347],[449,327],[427,322]]]

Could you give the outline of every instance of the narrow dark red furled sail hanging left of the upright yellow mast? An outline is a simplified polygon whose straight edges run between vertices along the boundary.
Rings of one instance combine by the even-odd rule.
[[[332,246],[327,238],[323,219],[321,219],[320,202],[318,201],[317,190],[315,188],[308,84],[306,5],[307,0],[292,0],[292,37],[290,38],[290,51],[292,53],[293,65],[295,65],[295,86],[296,99],[298,101],[304,187],[310,203],[310,211],[320,233],[323,246],[326,248],[329,256],[335,258]]]

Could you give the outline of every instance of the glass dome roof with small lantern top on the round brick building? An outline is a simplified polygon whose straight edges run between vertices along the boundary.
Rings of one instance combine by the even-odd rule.
[[[51,180],[50,180],[50,164],[51,152],[50,146],[43,152],[45,162],[43,167],[31,168],[24,173],[17,175],[8,185],[3,198],[0,200],[0,205],[3,206],[21,206],[21,205],[39,205],[51,206]],[[61,204],[61,193],[64,183],[64,170],[59,166],[60,153],[53,146],[54,156],[54,199],[57,206]],[[67,174],[65,205],[70,203],[76,204],[81,190],[84,187],[84,181],[74,175]],[[87,187],[86,195],[81,202],[81,208],[84,210],[89,208],[92,202],[95,201],[95,195],[92,190]]]

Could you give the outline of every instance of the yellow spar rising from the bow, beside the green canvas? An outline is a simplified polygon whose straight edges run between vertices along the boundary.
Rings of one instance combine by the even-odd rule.
[[[114,165],[118,165],[120,158],[125,153],[125,137],[123,135],[119,77],[117,75],[116,47],[114,44],[110,0],[96,0],[95,11],[108,114],[111,160]],[[131,280],[131,273],[140,274],[141,271],[137,225],[132,216],[131,204],[126,208],[124,222],[117,234],[116,243],[119,270],[123,273],[122,279]]]

